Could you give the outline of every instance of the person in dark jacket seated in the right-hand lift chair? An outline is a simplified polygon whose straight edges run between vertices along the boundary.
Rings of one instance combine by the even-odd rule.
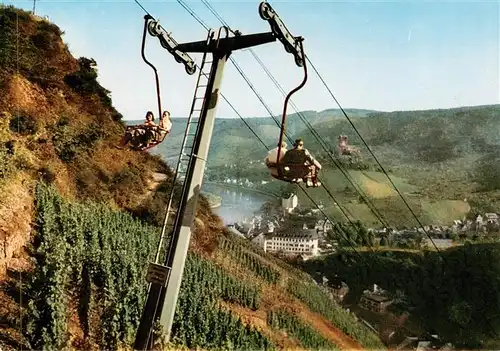
[[[318,182],[318,170],[321,164],[304,149],[302,139],[295,140],[294,148],[289,150],[281,160],[280,170],[287,178],[292,178],[294,182],[304,180],[307,187],[321,185]]]

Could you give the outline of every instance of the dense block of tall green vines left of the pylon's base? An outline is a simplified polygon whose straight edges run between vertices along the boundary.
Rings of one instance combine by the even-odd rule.
[[[37,265],[24,289],[30,297],[25,315],[30,347],[63,347],[68,314],[75,308],[86,337],[108,349],[130,343],[159,231],[103,205],[65,202],[43,184],[37,186],[36,210]],[[100,325],[91,326],[98,315]]]

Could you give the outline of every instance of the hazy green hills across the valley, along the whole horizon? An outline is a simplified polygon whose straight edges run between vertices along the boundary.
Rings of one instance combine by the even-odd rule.
[[[396,112],[350,109],[346,112],[424,222],[449,224],[471,209],[499,211],[500,105]],[[303,115],[330,151],[335,151],[339,135],[347,135],[349,144],[361,150],[362,163],[370,167],[369,171],[349,171],[356,184],[382,213],[393,219],[394,225],[417,225],[341,111],[304,111]],[[271,118],[246,121],[268,149],[277,144],[279,129]],[[174,119],[172,136],[154,153],[178,152],[184,128],[185,119]],[[376,218],[365,204],[358,202],[359,195],[352,188],[349,190],[351,185],[345,176],[333,165],[297,114],[288,117],[287,131],[292,139],[302,137],[306,147],[327,167],[323,179],[353,216],[376,225]],[[235,160],[261,160],[265,154],[266,150],[240,119],[216,120],[209,168]],[[345,161],[342,157],[338,159]],[[266,171],[264,166],[255,167]],[[277,181],[270,183],[274,188],[286,188],[282,185]],[[334,206],[323,189],[309,192],[317,200]],[[307,202],[305,198],[301,200]],[[330,213],[340,215],[338,209],[332,208]]]

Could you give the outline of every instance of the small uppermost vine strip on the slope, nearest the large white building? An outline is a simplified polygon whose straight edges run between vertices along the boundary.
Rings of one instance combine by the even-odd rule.
[[[221,245],[223,252],[235,258],[237,262],[240,262],[268,283],[274,284],[278,282],[280,273],[268,264],[265,264],[257,255],[245,251],[241,245],[237,245],[224,238],[220,239],[219,245]]]

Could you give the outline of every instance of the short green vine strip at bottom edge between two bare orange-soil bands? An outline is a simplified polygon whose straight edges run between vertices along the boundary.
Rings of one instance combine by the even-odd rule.
[[[318,334],[310,326],[304,324],[299,318],[295,317],[286,309],[269,311],[267,313],[267,324],[276,329],[282,329],[300,340],[304,347],[308,349],[328,349],[339,350],[336,345]]]

